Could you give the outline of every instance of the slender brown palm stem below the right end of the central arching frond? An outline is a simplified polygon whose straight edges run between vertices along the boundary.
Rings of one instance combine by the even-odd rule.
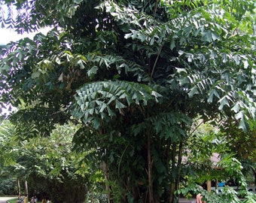
[[[153,196],[153,183],[152,183],[152,159],[151,159],[151,134],[147,132],[148,137],[148,196],[149,196],[149,203],[154,203],[154,196]]]

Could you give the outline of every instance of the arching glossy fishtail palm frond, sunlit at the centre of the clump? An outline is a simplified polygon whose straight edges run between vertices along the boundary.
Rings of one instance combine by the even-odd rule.
[[[73,116],[84,123],[96,120],[109,120],[122,114],[123,108],[130,105],[148,105],[149,101],[158,102],[161,97],[158,86],[128,81],[100,81],[88,83],[77,90]]]

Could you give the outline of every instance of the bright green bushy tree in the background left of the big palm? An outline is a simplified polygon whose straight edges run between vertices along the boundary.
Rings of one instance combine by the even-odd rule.
[[[2,142],[5,148],[2,152],[5,165],[2,168],[8,170],[12,180],[16,182],[17,178],[20,181],[21,194],[27,180],[29,196],[50,198],[54,202],[84,201],[93,185],[89,178],[93,180],[96,171],[93,171],[94,175],[90,175],[92,169],[78,164],[83,154],[78,157],[71,151],[72,135],[76,130],[74,126],[59,126],[49,138],[29,140],[20,140],[20,136],[15,134],[14,126],[6,122],[2,123],[1,129],[11,132],[2,133],[2,138],[8,138]],[[100,180],[100,174],[98,176]],[[17,195],[17,190],[13,192]]]

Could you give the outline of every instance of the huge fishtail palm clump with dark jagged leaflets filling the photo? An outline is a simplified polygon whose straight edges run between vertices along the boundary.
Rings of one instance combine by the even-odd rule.
[[[6,2],[4,25],[53,29],[2,48],[2,102],[26,137],[81,123],[110,202],[176,201],[192,120],[254,118],[253,1]]]

